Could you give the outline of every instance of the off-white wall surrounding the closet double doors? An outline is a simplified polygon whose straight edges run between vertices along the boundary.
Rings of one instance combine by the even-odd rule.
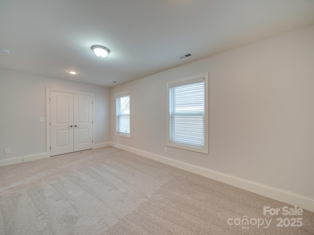
[[[95,142],[110,141],[108,88],[0,70],[0,161],[46,152],[46,87],[95,94]]]

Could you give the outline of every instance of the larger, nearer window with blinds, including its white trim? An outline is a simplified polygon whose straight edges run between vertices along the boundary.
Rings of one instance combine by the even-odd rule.
[[[208,93],[208,73],[168,83],[168,146],[209,152]]]

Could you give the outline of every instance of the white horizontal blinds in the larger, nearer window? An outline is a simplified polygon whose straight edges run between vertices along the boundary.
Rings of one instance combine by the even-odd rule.
[[[169,142],[205,148],[204,78],[169,85]]]

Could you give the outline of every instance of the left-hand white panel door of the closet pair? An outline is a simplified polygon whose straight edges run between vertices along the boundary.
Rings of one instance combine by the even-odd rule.
[[[50,99],[51,156],[73,152],[73,94],[50,92]]]

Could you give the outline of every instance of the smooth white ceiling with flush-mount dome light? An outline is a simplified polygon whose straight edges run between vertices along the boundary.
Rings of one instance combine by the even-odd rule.
[[[310,24],[314,0],[0,0],[0,68],[112,87]]]

